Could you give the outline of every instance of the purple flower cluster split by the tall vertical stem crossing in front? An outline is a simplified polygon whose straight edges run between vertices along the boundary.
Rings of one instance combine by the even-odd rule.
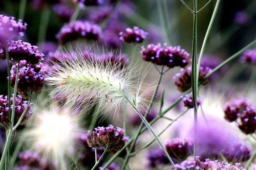
[[[184,92],[188,90],[192,85],[191,85],[191,66],[187,68],[181,68],[180,73],[176,74],[173,77],[174,83],[177,87],[177,89],[180,92]],[[201,81],[207,74],[211,72],[211,69],[209,67],[200,67],[199,70],[199,78],[198,80]],[[203,85],[206,85],[208,83],[208,80],[206,80]]]

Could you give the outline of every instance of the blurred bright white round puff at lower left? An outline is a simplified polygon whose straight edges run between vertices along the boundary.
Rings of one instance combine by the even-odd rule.
[[[24,132],[26,146],[53,161],[58,169],[67,167],[65,158],[67,155],[74,158],[73,151],[82,132],[79,118],[76,111],[67,108],[38,110]]]

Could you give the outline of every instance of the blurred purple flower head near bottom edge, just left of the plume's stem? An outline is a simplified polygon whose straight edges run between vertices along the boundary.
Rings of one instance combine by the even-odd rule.
[[[147,154],[147,160],[147,166],[149,168],[159,167],[159,165],[161,166],[170,164],[170,161],[160,147],[150,150]],[[173,159],[173,161],[175,160]]]

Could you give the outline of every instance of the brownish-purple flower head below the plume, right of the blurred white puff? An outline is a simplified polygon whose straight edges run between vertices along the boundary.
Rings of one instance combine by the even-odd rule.
[[[124,130],[121,128],[114,128],[113,125],[109,125],[108,127],[98,127],[95,128],[93,132],[93,136],[88,133],[87,134],[87,143],[89,147],[92,148],[108,148],[110,151],[119,151],[121,150],[125,142],[129,140],[128,137],[124,137]]]

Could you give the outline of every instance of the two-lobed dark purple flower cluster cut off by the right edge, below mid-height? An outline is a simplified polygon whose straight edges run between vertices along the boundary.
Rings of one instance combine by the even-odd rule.
[[[237,121],[239,129],[245,134],[256,130],[256,108],[244,98],[233,99],[223,106],[225,119],[229,122]]]

